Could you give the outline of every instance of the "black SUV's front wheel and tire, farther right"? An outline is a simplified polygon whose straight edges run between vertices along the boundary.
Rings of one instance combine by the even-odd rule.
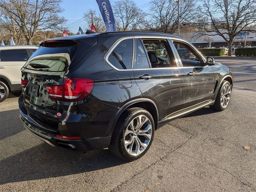
[[[224,80],[217,94],[215,102],[212,106],[210,106],[210,108],[217,111],[225,110],[228,107],[228,104],[230,102],[230,97],[231,97],[231,85],[228,81]]]

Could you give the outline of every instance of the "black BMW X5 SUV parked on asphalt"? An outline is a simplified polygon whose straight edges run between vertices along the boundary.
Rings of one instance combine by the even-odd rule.
[[[181,48],[193,56],[181,59]],[[233,84],[228,67],[184,38],[154,32],[46,40],[21,71],[20,119],[32,134],[68,150],[108,147],[129,161],[171,120],[226,109]]]

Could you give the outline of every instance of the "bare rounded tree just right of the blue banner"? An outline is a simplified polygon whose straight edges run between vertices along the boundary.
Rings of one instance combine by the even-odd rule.
[[[144,23],[145,13],[136,6],[133,0],[119,0],[114,6],[117,30],[136,30]]]

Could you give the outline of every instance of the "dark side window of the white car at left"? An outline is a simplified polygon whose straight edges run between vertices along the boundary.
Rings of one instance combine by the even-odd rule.
[[[28,54],[26,49],[1,50],[1,61],[27,61]]]

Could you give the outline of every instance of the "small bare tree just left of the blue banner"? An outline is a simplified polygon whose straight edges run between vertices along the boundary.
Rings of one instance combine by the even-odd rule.
[[[84,13],[84,20],[86,21],[87,27],[90,29],[93,21],[93,25],[96,28],[97,33],[106,32],[106,26],[100,14],[96,14],[95,10],[87,10]]]

